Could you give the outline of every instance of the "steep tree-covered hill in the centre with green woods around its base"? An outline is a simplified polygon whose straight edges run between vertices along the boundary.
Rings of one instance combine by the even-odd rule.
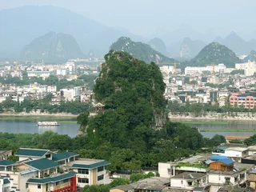
[[[202,138],[197,128],[166,122],[164,89],[162,74],[154,63],[148,65],[130,54],[110,51],[94,86],[95,99],[105,104],[105,111],[91,118],[88,112],[78,116],[78,123],[86,127],[87,134],[70,138],[50,131],[2,133],[0,150],[70,150],[83,158],[110,161],[111,171],[138,171],[142,166],[188,157],[201,152],[204,146],[211,148],[225,141],[219,135]]]

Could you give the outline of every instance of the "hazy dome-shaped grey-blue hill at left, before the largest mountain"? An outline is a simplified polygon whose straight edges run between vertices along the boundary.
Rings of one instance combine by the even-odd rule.
[[[65,61],[69,58],[83,58],[78,43],[70,34],[50,32],[35,38],[22,49],[25,60]]]

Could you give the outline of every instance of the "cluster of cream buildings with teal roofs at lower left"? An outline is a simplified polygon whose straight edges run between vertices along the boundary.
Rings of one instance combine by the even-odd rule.
[[[10,177],[17,191],[76,191],[86,185],[106,184],[106,166],[110,163],[104,160],[79,159],[79,154],[68,151],[26,148],[14,155],[18,162],[0,161],[0,176]]]

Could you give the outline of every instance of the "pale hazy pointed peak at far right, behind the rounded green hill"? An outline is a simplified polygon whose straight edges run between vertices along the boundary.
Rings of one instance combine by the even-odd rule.
[[[249,54],[250,50],[256,49],[255,39],[251,39],[249,42],[246,42],[234,32],[230,33],[226,38],[215,38],[214,41],[227,46],[230,50],[233,50],[235,54]]]

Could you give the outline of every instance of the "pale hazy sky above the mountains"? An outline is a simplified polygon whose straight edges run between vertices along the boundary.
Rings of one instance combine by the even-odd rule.
[[[145,36],[184,24],[200,32],[210,28],[243,34],[256,31],[255,0],[0,0],[0,10],[26,5],[61,6]]]

